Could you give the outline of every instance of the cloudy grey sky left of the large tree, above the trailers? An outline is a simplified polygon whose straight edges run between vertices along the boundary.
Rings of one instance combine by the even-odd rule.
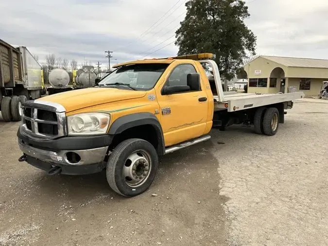
[[[184,0],[180,0],[172,9],[174,13],[168,19],[163,18],[164,21],[158,22],[159,25],[148,35],[138,38],[176,2],[1,1],[0,8],[6,11],[0,16],[0,37],[11,44],[27,46],[31,53],[39,55],[41,62],[44,62],[46,54],[54,53],[57,57],[75,58],[79,63],[86,59],[106,64],[108,60],[104,51],[107,50],[114,51],[113,63],[123,62],[147,54],[143,52],[174,35],[176,28],[172,28],[184,18]],[[172,41],[174,37],[148,53]],[[176,54],[177,50],[172,44],[154,55],[170,56]]]

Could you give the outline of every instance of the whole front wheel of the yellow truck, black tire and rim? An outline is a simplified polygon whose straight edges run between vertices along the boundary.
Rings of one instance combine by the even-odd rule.
[[[148,170],[147,164],[138,163],[138,160],[133,161],[133,157],[140,157],[140,160],[146,162],[148,160]],[[138,165],[140,168],[137,167]],[[109,156],[106,167],[107,182],[116,193],[127,197],[136,196],[145,192],[151,186],[155,179],[157,169],[158,156],[154,146],[142,139],[128,139],[122,141]],[[148,173],[146,174],[147,171]],[[136,174],[136,172],[138,173]],[[131,178],[134,177],[133,173],[135,176],[140,175],[139,177],[143,178],[139,180],[139,184],[133,184],[136,181]],[[127,179],[126,177],[129,178]]]

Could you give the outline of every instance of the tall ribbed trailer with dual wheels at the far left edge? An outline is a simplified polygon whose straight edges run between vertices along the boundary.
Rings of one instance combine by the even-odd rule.
[[[0,110],[5,122],[21,121],[21,105],[41,97],[41,65],[25,46],[0,39]]]

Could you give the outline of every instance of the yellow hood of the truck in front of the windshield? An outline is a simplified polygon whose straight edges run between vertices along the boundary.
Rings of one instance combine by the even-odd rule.
[[[36,101],[47,101],[63,105],[67,112],[77,109],[122,100],[141,98],[145,91],[118,88],[85,88],[74,89],[62,93],[42,97]]]

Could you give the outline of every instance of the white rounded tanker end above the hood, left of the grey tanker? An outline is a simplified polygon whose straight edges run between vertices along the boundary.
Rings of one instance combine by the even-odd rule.
[[[69,91],[73,88],[69,87],[69,73],[64,69],[53,69],[50,71],[48,81],[51,87],[48,87],[49,95]]]

